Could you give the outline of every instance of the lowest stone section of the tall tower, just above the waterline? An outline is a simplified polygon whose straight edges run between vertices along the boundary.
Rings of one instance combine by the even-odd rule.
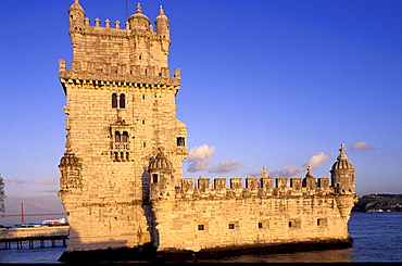
[[[66,251],[135,248],[151,241],[145,207],[138,202],[86,203],[70,213]]]

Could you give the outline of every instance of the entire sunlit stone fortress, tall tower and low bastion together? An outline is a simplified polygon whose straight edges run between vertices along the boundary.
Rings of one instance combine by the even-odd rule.
[[[356,194],[344,154],[330,178],[183,179],[187,127],[176,118],[180,69],[167,64],[169,21],[137,13],[113,25],[68,9],[73,62],[61,189],[70,240],[63,254],[122,248],[209,252],[298,242],[349,242]]]

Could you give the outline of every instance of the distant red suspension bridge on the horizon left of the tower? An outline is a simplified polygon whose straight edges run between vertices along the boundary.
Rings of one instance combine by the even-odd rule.
[[[20,206],[20,210],[17,210]],[[16,210],[15,213],[9,214],[8,210]],[[27,212],[28,211],[28,212]],[[25,217],[28,216],[61,216],[61,215],[67,215],[66,213],[60,213],[56,211],[51,211],[42,207],[37,207],[24,202],[17,203],[15,205],[12,205],[5,210],[5,214],[3,217],[17,217],[21,216],[21,224],[25,223]]]

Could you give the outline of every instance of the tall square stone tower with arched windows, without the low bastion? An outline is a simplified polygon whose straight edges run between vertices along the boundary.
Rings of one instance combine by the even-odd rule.
[[[176,118],[180,71],[171,76],[167,64],[169,21],[161,7],[154,30],[138,4],[125,28],[98,18],[90,25],[78,0],[68,15],[71,69],[59,62],[67,115],[59,165],[71,226],[66,252],[146,245],[151,183],[180,186],[187,155],[187,127]]]

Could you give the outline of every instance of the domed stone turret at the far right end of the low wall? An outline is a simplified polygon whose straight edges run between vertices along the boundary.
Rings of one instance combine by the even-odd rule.
[[[354,194],[354,168],[351,162],[348,161],[346,149],[342,143],[339,149],[340,153],[337,162],[334,163],[332,168],[329,170],[332,187],[336,193],[339,194]]]

